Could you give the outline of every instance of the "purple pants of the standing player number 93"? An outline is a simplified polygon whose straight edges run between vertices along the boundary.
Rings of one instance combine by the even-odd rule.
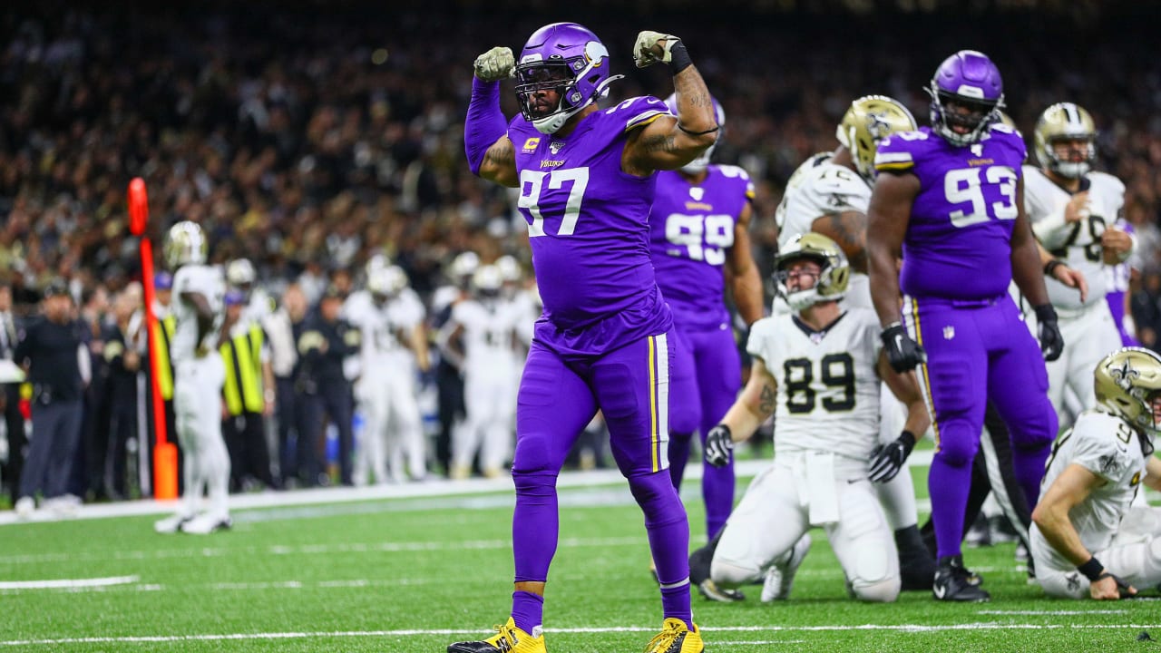
[[[1007,294],[987,301],[904,297],[907,330],[928,352],[916,371],[933,410],[936,454],[928,476],[938,555],[960,554],[972,460],[990,400],[1008,424],[1012,466],[1029,508],[1057,437],[1040,347]]]

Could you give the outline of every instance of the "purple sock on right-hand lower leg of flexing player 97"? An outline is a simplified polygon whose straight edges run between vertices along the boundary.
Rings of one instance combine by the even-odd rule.
[[[649,550],[657,564],[661,605],[665,618],[677,618],[693,627],[690,607],[690,521],[685,507],[663,469],[629,479],[637,505],[646,516]]]

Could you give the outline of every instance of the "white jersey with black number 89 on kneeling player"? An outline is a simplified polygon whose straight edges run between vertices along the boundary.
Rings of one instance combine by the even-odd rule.
[[[807,450],[867,461],[879,444],[879,318],[852,308],[825,331],[796,315],[753,323],[747,351],[778,381],[774,457]]]

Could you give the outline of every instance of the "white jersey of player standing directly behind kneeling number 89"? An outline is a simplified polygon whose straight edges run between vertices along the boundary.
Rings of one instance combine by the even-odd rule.
[[[824,215],[858,211],[864,215],[871,204],[871,186],[853,170],[830,163],[830,152],[815,155],[806,160],[789,181],[778,204],[778,247],[801,234],[810,231],[814,221]],[[851,271],[846,308],[873,308],[871,284],[866,274]]]

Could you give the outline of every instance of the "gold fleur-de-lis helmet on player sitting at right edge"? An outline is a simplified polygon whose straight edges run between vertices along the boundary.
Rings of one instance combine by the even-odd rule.
[[[1122,347],[1094,373],[1097,403],[1151,439],[1158,435],[1153,402],[1161,397],[1161,357],[1145,347]]]

